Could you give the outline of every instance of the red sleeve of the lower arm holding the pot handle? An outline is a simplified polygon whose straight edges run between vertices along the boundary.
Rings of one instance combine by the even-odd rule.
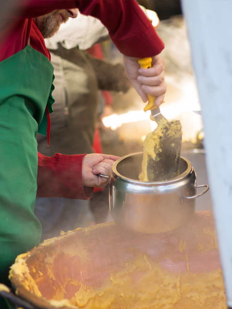
[[[37,197],[90,199],[93,188],[82,182],[83,157],[58,153],[47,157],[38,152]]]

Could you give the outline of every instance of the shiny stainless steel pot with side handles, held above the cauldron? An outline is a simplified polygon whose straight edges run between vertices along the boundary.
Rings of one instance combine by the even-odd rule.
[[[140,181],[143,152],[126,155],[110,174],[110,214],[119,224],[143,233],[160,233],[185,225],[195,212],[195,198],[208,191],[196,186],[191,163],[181,157],[180,175],[162,182]],[[206,189],[196,194],[196,189]]]

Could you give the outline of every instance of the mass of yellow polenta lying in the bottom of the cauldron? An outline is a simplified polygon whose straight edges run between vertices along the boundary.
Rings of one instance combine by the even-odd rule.
[[[85,309],[226,309],[221,269],[191,273],[169,272],[141,255],[112,270],[101,288],[82,285],[72,304]],[[216,307],[215,307],[216,306]]]

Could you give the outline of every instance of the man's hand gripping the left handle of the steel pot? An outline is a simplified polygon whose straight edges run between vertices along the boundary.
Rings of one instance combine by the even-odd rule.
[[[111,167],[120,157],[115,155],[88,154],[82,161],[82,180],[86,187],[103,188],[108,183],[107,178],[98,176],[102,174],[110,175]]]

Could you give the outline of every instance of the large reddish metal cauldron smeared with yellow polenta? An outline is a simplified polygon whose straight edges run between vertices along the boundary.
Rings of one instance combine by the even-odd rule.
[[[111,290],[114,274],[129,280],[127,288],[119,281]],[[167,302],[173,309],[225,308],[210,211],[195,212],[187,225],[166,233],[133,232],[114,222],[67,232],[18,256],[10,278],[30,303],[19,303],[25,309],[77,309],[73,300],[83,288],[90,293],[83,309],[161,309]],[[92,289],[102,296],[92,298]]]

